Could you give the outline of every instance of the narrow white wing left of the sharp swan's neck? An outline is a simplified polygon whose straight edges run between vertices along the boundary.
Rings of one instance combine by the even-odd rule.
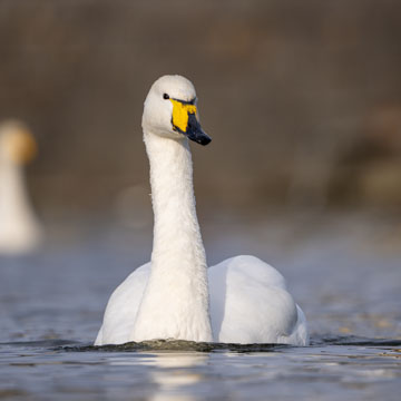
[[[129,341],[136,314],[150,274],[150,262],[135,270],[111,294],[95,345]]]

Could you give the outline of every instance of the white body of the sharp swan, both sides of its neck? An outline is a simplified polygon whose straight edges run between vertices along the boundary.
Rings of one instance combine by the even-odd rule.
[[[131,333],[149,275],[150,262],[115,290],[96,345],[134,340]],[[307,344],[302,310],[285,290],[283,276],[263,261],[232,257],[208,268],[208,282],[214,342]],[[160,312],[164,310],[162,306]]]

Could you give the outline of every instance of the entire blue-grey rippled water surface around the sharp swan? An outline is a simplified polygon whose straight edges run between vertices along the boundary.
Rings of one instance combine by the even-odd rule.
[[[91,346],[109,294],[147,262],[151,227],[63,222],[40,252],[0,258],[0,400],[399,400],[400,222],[200,223],[211,264],[254,254],[285,275],[311,346]]]

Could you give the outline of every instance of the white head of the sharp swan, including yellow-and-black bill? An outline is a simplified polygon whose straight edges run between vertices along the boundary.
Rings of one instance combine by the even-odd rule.
[[[164,76],[151,86],[145,100],[143,127],[172,139],[186,136],[200,145],[212,140],[200,128],[193,84],[177,75]]]

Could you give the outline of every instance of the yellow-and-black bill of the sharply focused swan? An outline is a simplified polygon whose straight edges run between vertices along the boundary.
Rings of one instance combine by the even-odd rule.
[[[197,109],[195,99],[185,101],[178,99],[169,99],[173,104],[172,124],[173,129],[185,135],[188,139],[200,145],[207,145],[212,138],[202,129],[197,119]]]

